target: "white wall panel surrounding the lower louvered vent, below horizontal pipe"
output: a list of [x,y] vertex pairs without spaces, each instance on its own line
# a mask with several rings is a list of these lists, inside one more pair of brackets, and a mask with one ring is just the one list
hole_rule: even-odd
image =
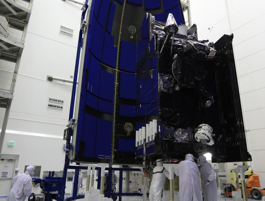
[[[68,120],[71,93],[71,86],[18,75],[11,111]],[[49,96],[64,99],[63,112],[47,109]]]

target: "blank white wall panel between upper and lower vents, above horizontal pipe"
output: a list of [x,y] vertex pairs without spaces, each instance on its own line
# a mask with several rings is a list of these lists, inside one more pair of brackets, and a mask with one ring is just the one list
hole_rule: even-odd
[[[34,48],[33,48],[34,47]],[[77,48],[28,33],[19,74],[46,80],[47,75],[73,80]]]

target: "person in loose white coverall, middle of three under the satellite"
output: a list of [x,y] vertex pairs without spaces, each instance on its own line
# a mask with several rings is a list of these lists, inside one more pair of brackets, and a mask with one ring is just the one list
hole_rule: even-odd
[[181,201],[202,201],[200,174],[193,155],[186,154],[174,172],[179,177],[179,198]]

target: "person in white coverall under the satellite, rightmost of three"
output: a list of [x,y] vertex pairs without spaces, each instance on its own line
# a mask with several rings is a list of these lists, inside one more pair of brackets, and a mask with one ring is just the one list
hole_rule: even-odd
[[198,166],[201,172],[201,186],[204,201],[217,201],[217,184],[213,167],[205,156],[199,156]]

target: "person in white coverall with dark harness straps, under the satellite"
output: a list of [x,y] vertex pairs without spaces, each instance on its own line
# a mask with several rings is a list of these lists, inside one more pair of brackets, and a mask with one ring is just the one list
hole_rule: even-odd
[[149,190],[149,201],[161,201],[162,190],[164,189],[166,176],[169,172],[163,167],[163,160],[156,160],[156,167],[153,169],[153,179]]

